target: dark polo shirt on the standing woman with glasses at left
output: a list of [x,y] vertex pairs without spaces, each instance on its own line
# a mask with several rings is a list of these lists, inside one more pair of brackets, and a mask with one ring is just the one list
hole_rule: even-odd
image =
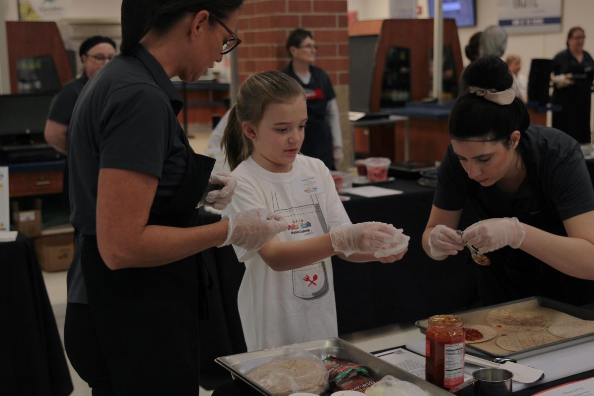
[[[187,141],[177,115],[183,102],[157,60],[138,45],[90,78],[74,108],[68,134],[71,223],[96,235],[99,169],[159,178],[153,209],[181,184]],[[114,202],[117,204],[117,202]]]

